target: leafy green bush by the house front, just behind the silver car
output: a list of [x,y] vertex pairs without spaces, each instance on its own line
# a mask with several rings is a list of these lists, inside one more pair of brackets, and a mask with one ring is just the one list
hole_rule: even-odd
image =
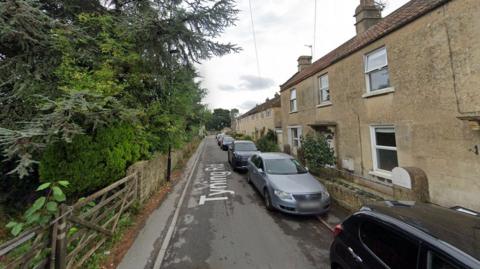
[[323,135],[307,135],[302,137],[302,158],[307,166],[313,169],[335,164],[335,155]]

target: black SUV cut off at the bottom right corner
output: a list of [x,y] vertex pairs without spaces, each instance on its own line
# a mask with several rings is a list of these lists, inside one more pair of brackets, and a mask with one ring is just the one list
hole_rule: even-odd
[[480,217],[431,204],[386,201],[334,229],[331,267],[480,268]]

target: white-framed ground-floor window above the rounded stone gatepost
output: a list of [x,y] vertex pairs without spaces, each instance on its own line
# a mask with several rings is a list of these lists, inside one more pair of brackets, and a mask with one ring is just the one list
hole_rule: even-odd
[[398,166],[397,142],[393,126],[371,127],[373,170],[390,173]]

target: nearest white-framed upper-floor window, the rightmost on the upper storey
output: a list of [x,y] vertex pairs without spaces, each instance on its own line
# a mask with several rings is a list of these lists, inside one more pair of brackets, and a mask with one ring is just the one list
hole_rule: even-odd
[[377,49],[365,55],[365,80],[367,92],[377,91],[390,87],[388,74],[387,49]]

